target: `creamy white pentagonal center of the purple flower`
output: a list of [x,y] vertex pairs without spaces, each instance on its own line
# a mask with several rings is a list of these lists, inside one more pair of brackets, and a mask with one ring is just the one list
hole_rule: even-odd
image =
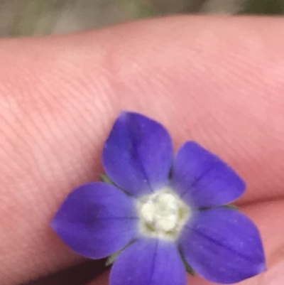
[[190,207],[165,188],[140,198],[138,213],[143,235],[175,240],[190,217]]

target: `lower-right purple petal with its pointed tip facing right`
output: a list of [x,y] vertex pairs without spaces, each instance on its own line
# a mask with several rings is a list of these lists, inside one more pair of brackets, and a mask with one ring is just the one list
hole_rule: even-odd
[[179,244],[187,262],[209,281],[231,284],[266,270],[260,234],[236,210],[200,211],[185,226]]

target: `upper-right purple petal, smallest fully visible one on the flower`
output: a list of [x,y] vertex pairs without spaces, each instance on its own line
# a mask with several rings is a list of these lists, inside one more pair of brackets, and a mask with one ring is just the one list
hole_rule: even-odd
[[197,208],[231,203],[246,188],[232,168],[194,141],[178,151],[171,184],[183,200]]

